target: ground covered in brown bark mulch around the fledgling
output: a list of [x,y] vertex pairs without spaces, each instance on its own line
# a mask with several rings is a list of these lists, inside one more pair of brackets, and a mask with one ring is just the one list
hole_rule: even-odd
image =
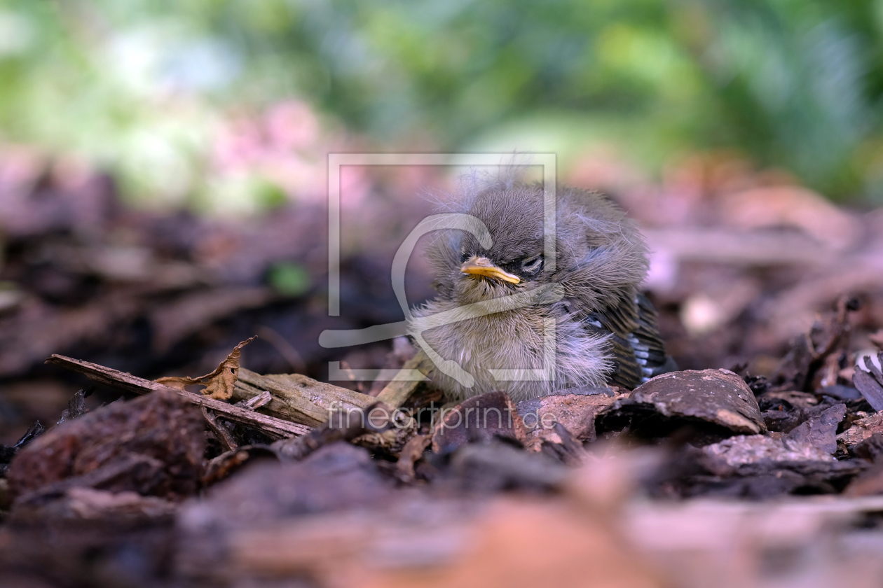
[[[878,584],[883,209],[713,157],[611,190],[685,371],[403,423],[442,405],[431,383],[323,381],[422,365],[404,339],[318,340],[404,318],[420,181],[344,202],[330,317],[322,205],[210,220],[0,173],[3,585]],[[199,374],[210,402],[155,382]],[[479,406],[508,419],[470,428]]]

